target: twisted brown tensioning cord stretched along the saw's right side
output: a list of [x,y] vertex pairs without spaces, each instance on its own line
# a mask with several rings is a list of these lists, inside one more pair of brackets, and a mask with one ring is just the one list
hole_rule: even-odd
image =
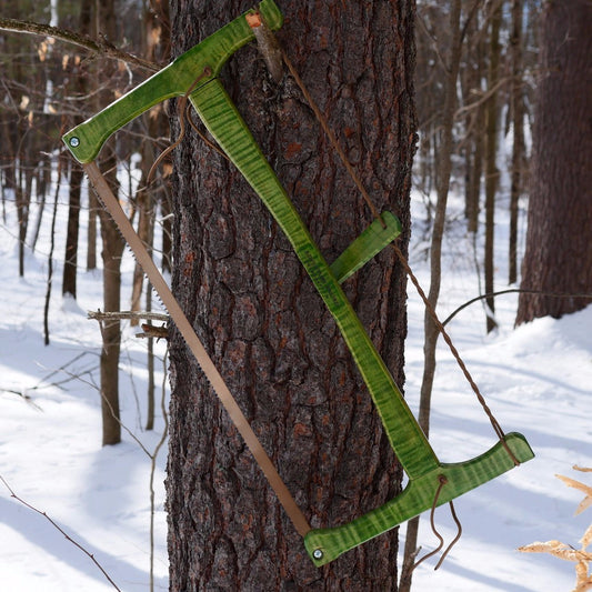
[[[285,66],[288,67],[288,70],[290,71],[290,74],[294,79],[295,83],[298,84],[298,87],[300,88],[302,94],[304,96],[304,99],[307,99],[310,108],[314,112],[314,116],[317,117],[317,120],[319,121],[319,123],[320,123],[321,128],[323,129],[323,131],[327,133],[327,137],[329,138],[329,141],[330,141],[332,148],[338,153],[341,162],[343,163],[343,165],[348,170],[348,173],[350,174],[352,181],[358,187],[358,189],[359,189],[360,193],[362,194],[365,203],[368,204],[370,211],[372,212],[372,215],[375,219],[381,220],[381,222],[382,222],[382,224],[384,227],[384,222],[380,218],[380,212],[379,212],[375,203],[372,201],[372,198],[368,193],[364,184],[362,183],[362,180],[360,179],[360,175],[357,173],[355,169],[349,162],[349,160],[348,160],[348,158],[345,155],[345,152],[341,148],[341,146],[340,146],[338,139],[335,138],[333,131],[329,127],[327,118],[324,117],[324,114],[321,112],[321,110],[317,106],[314,99],[312,98],[312,96],[308,91],[307,87],[304,86],[304,82],[302,81],[302,79],[298,74],[295,68],[293,67],[292,62],[290,61],[290,59],[285,54],[285,51],[283,51],[283,49],[281,49],[281,54],[282,54],[282,58],[283,58],[283,61],[284,61]],[[409,265],[409,262],[408,262],[405,255],[402,253],[401,249],[399,248],[399,245],[397,243],[393,242],[392,247],[394,249],[394,252],[395,252],[398,259],[401,261],[401,264],[403,265],[403,269],[405,270],[405,273],[409,275],[409,278],[411,279],[411,282],[413,283],[413,285],[418,290],[418,293],[419,293],[420,298],[422,299],[423,304],[425,305],[425,309],[428,310],[428,313],[430,314],[431,319],[435,323],[435,327],[438,328],[438,331],[442,334],[442,338],[444,339],[444,341],[448,344],[452,355],[456,360],[456,363],[459,364],[459,367],[462,370],[464,377],[466,378],[469,384],[471,385],[473,392],[475,393],[476,399],[479,400],[481,407],[483,408],[483,411],[488,415],[488,418],[490,420],[490,423],[493,427],[493,431],[495,432],[495,434],[498,435],[498,438],[499,438],[500,442],[502,443],[503,448],[505,449],[505,451],[508,452],[508,454],[512,459],[512,462],[514,463],[514,465],[518,466],[520,464],[520,461],[516,459],[515,454],[512,452],[512,450],[510,449],[510,446],[505,442],[505,440],[504,440],[504,435],[505,434],[504,434],[500,423],[498,422],[498,420],[493,415],[493,412],[491,411],[491,409],[486,404],[485,398],[481,393],[479,387],[476,385],[476,383],[473,380],[471,373],[469,372],[469,369],[466,368],[466,364],[464,363],[463,359],[461,358],[461,355],[459,353],[459,350],[452,343],[452,339],[450,338],[450,335],[448,334],[448,331],[445,330],[444,325],[442,324],[442,322],[438,318],[438,314],[435,312],[434,307],[432,305],[432,303],[430,302],[430,300],[425,295],[425,292],[422,290],[420,283],[419,283],[419,280],[415,277],[415,274],[413,273],[413,271],[411,270],[411,267]]]

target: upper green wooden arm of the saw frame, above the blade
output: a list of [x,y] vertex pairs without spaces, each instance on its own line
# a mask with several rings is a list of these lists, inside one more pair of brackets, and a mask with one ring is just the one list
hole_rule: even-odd
[[126,123],[165,99],[185,94],[195,86],[195,81],[199,80],[197,89],[215,78],[232,53],[254,39],[247,16],[255,12],[261,14],[270,29],[278,30],[282,26],[283,17],[275,2],[262,0],[259,9],[251,9],[229,22],[139,87],[66,133],[63,141],[73,157],[83,164],[93,161],[107,139]]

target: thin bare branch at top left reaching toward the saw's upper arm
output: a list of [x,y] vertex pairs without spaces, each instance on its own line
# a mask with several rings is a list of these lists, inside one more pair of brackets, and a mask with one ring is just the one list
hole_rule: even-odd
[[74,46],[84,48],[96,57],[108,58],[110,60],[120,60],[151,72],[158,72],[161,69],[158,63],[143,60],[142,58],[138,58],[132,53],[128,53],[127,51],[116,48],[104,38],[97,40],[87,34],[76,33],[74,31],[69,31],[68,29],[61,29],[59,27],[52,27],[51,24],[0,17],[0,30],[37,34],[42,37],[53,37],[54,39],[64,41],[66,43],[72,43]]

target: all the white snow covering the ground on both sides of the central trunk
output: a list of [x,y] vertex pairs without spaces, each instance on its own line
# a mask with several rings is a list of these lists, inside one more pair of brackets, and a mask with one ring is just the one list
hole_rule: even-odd
[[[451,201],[451,212],[461,204]],[[34,208],[33,208],[34,209]],[[100,272],[79,273],[78,299],[61,297],[66,207],[58,209],[50,345],[43,345],[50,213],[46,211],[36,252],[27,249],[26,274],[18,278],[16,213],[7,201],[0,228],[0,475],[14,493],[46,512],[87,549],[121,590],[148,590],[150,569],[150,458],[123,432],[123,443],[101,448],[99,381],[100,333],[87,310],[101,307]],[[411,263],[429,284],[421,237],[424,210],[414,197],[415,234]],[[31,217],[33,218],[33,217]],[[84,217],[83,217],[84,220]],[[84,223],[82,224],[84,225]],[[506,220],[498,215],[498,253],[503,252]],[[86,237],[81,235],[81,254]],[[479,245],[478,245],[479,248]],[[505,289],[505,262],[496,255],[498,289]],[[83,259],[83,255],[82,255]],[[479,293],[473,245],[462,220],[451,217],[444,243],[441,318]],[[129,299],[133,262],[126,254],[123,299]],[[423,309],[410,285],[405,392],[414,411],[422,373]],[[561,320],[540,319],[513,328],[518,298],[496,299],[499,330],[486,335],[481,303],[461,311],[449,330],[503,429],[523,433],[535,459],[455,501],[463,535],[443,565],[424,562],[413,575],[413,590],[471,592],[569,591],[574,565],[523,554],[518,546],[559,539],[578,545],[590,524],[590,511],[574,516],[581,492],[555,476],[590,484],[590,474],[573,464],[592,465],[592,308]],[[127,304],[123,304],[127,307]],[[163,344],[157,345],[162,358]],[[163,379],[157,364],[157,384]],[[162,433],[146,431],[146,343],[123,327],[121,357],[122,421],[152,453]],[[157,397],[160,393],[157,392]],[[157,405],[159,407],[159,405]],[[488,418],[443,343],[439,344],[430,437],[442,461],[462,461],[495,443]],[[155,469],[154,588],[168,588],[163,479],[165,446]],[[455,526],[448,506],[437,511],[437,525],[449,542]],[[401,529],[401,549],[404,544]],[[433,549],[428,516],[421,521],[422,553]],[[0,590],[19,592],[112,590],[97,565],[66,540],[42,515],[11,499],[0,483]]]

